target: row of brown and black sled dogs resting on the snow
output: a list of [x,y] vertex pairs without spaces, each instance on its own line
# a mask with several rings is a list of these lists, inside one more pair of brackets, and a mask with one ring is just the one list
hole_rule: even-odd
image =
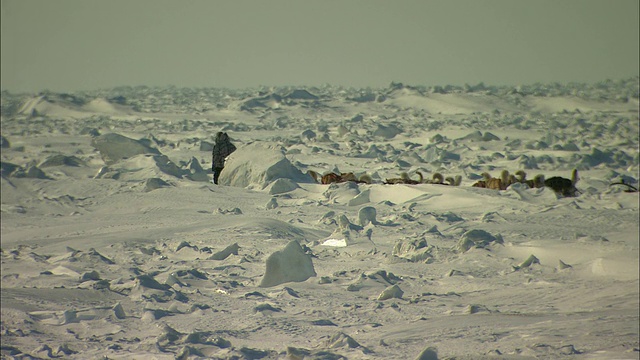
[[[356,183],[371,184],[373,179],[367,174],[362,174],[359,177],[352,172],[336,174],[333,172],[320,175],[313,170],[307,172],[317,183],[320,184],[332,184],[341,183],[347,181],[353,181]],[[420,171],[416,171],[418,179],[411,179],[409,174],[402,172],[398,178],[385,179],[383,184],[435,184],[435,185],[448,185],[448,186],[460,186],[462,183],[462,176],[456,175],[455,177],[447,176],[446,178],[441,173],[434,173],[431,179],[424,179],[424,176]],[[545,179],[542,174],[536,175],[533,179],[527,179],[527,174],[524,170],[518,170],[515,174],[510,174],[508,170],[503,170],[499,178],[492,177],[489,173],[482,174],[483,180],[477,181],[472,186],[479,188],[487,188],[494,190],[506,190],[509,186],[515,183],[526,184],[529,188],[542,188],[548,187],[555,191],[558,195],[565,197],[576,196],[580,191],[576,188],[578,182],[578,170],[573,169],[571,173],[571,179],[563,178],[560,176],[554,176]]]

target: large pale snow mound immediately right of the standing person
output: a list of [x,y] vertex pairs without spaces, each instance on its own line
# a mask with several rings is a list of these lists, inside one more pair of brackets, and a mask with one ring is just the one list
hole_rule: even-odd
[[220,173],[220,185],[266,188],[277,179],[310,182],[310,177],[293,166],[277,145],[252,143],[229,156]]

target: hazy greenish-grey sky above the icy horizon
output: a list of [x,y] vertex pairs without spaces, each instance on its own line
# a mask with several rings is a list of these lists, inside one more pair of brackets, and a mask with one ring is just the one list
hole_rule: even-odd
[[0,0],[1,88],[593,82],[638,0]]

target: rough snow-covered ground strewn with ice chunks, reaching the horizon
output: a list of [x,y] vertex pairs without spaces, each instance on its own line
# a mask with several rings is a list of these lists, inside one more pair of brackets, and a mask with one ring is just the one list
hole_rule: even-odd
[[3,92],[2,358],[638,359],[638,92]]

